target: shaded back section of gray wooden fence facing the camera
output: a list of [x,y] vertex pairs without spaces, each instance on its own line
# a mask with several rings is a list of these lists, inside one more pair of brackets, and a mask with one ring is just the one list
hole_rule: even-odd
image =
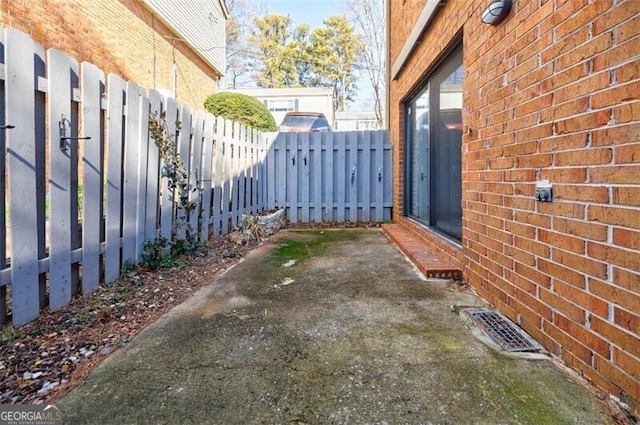
[[391,219],[389,132],[279,133],[267,154],[267,207],[290,222]]

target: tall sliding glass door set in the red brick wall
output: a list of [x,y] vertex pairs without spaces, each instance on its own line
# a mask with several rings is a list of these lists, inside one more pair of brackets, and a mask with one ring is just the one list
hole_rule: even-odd
[[406,215],[462,240],[462,48],[405,105]]

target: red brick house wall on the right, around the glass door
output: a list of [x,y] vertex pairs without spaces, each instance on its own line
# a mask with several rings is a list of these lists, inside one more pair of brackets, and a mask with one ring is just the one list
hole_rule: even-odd
[[[394,220],[640,413],[640,1],[450,0],[391,81]],[[393,64],[425,0],[391,0]],[[398,18],[396,19],[396,16]],[[403,218],[403,101],[463,34],[463,240]],[[554,200],[535,202],[550,180]]]

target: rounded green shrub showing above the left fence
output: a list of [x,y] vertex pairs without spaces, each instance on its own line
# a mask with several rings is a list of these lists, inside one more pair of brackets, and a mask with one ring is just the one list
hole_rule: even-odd
[[278,129],[267,107],[255,97],[246,94],[214,93],[204,101],[204,108],[217,117],[237,121],[260,131]]

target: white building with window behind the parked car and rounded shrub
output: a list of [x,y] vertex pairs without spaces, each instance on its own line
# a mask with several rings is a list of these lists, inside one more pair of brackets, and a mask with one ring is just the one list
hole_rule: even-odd
[[247,88],[229,90],[253,96],[265,104],[280,125],[287,112],[320,112],[334,125],[331,87]]

